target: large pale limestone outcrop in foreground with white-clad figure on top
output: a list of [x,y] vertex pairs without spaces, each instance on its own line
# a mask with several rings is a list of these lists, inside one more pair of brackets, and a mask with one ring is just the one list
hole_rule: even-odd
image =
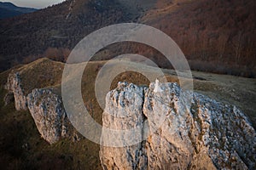
[[[159,83],[157,91],[154,86],[124,82],[108,93],[103,126],[141,127],[134,135],[147,136],[131,146],[127,141],[132,136],[120,142],[124,147],[101,146],[104,169],[255,167],[256,133],[236,106],[184,91],[176,83]],[[143,122],[147,127],[139,126]],[[102,131],[103,144],[106,136]]]

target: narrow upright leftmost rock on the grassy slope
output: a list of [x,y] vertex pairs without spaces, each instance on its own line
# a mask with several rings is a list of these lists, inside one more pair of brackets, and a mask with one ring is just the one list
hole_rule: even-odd
[[24,90],[21,85],[19,72],[9,74],[6,89],[8,89],[9,92],[13,93],[15,96],[16,110],[27,110],[26,95],[24,94]]

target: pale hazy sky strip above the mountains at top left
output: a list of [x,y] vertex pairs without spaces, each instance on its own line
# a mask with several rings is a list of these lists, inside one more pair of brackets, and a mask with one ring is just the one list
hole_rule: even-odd
[[11,2],[20,7],[45,8],[63,1],[65,0],[1,0],[0,2]]

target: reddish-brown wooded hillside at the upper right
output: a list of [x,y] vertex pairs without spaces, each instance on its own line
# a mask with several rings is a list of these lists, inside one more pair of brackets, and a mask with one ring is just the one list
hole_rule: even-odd
[[141,22],[170,35],[188,59],[199,61],[192,67],[205,70],[199,64],[210,61],[216,71],[226,65],[255,71],[255,8],[249,0],[173,1],[149,10]]

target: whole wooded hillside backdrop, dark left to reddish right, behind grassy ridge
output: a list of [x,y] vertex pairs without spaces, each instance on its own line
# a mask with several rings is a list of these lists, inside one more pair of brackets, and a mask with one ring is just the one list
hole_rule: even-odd
[[[194,70],[255,77],[254,8],[253,0],[67,0],[34,14],[0,21],[0,70],[39,57],[65,61],[75,44],[90,32],[135,21],[170,35]],[[96,59],[127,51],[149,55],[166,66],[160,54],[137,44],[108,47],[109,55],[97,54]]]

